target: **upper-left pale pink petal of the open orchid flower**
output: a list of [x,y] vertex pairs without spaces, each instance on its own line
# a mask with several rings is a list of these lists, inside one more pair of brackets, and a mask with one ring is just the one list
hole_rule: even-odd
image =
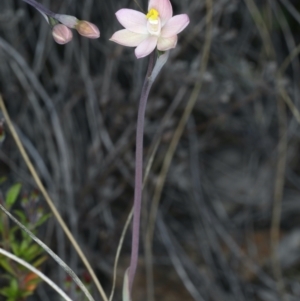
[[147,34],[147,18],[143,13],[133,9],[120,9],[116,12],[118,21],[128,30]]

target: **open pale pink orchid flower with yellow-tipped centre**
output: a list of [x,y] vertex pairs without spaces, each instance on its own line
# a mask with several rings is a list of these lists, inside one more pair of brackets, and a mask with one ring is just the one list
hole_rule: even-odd
[[190,22],[186,14],[172,17],[170,0],[150,0],[147,15],[132,9],[120,9],[116,16],[125,29],[115,32],[110,40],[136,47],[137,58],[147,56],[155,47],[160,51],[175,48],[177,34]]

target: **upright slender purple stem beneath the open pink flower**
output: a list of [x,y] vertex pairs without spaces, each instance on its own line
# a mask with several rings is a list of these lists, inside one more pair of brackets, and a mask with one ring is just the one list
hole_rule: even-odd
[[140,240],[140,215],[142,203],[142,185],[143,185],[143,140],[144,140],[144,121],[148,95],[153,83],[151,76],[154,65],[154,52],[150,54],[147,75],[144,81],[142,94],[140,98],[138,120],[136,128],[136,151],[135,151],[135,186],[134,186],[134,209],[133,209],[133,228],[131,258],[129,269],[129,289],[132,290],[133,280],[136,272],[139,256]]

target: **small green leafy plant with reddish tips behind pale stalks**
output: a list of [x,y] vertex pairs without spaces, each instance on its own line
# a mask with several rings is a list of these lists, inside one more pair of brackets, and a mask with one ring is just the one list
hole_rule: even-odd
[[[3,182],[0,179],[0,183]],[[23,210],[13,210],[13,214],[20,222],[33,233],[48,218],[49,214],[44,214],[39,207],[39,194],[37,191],[29,195],[20,197],[22,185],[20,183],[12,185],[5,194],[2,201],[7,210],[12,211],[17,200]],[[36,268],[39,268],[47,259],[44,250],[20,228],[12,224],[4,212],[0,212],[0,246],[13,253],[17,257],[27,261]],[[2,268],[0,294],[8,301],[21,301],[33,294],[41,279],[34,273],[28,271],[23,266],[16,264],[6,256],[0,255],[0,267]]]

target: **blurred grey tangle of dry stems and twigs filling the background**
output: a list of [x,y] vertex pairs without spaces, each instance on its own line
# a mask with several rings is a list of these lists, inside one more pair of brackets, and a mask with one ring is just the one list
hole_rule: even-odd
[[[146,11],[147,1],[136,2]],[[136,2],[41,1],[100,28],[100,39],[74,32],[65,46],[55,44],[32,7],[16,0],[0,4],[0,93],[107,292],[133,203],[136,115],[147,68],[147,58],[137,60],[132,48],[108,39],[121,29],[114,13],[124,7],[140,10]],[[171,2],[174,14],[187,13],[191,22],[148,102],[146,162],[159,144],[143,193],[134,300],[299,300],[299,1]],[[213,10],[210,31],[207,5]],[[200,73],[204,45],[210,42],[208,64]],[[145,259],[149,208],[170,142],[200,83],[159,197],[152,285]],[[7,185],[22,183],[24,191],[36,188],[8,131],[0,176],[7,177]],[[2,195],[6,189],[1,186]],[[54,218],[38,236],[84,277]],[[127,234],[115,300],[121,298],[130,244]],[[42,269],[62,286],[68,280],[50,259]],[[0,286],[4,282],[0,278]],[[57,300],[52,294],[40,284],[28,300]]]

